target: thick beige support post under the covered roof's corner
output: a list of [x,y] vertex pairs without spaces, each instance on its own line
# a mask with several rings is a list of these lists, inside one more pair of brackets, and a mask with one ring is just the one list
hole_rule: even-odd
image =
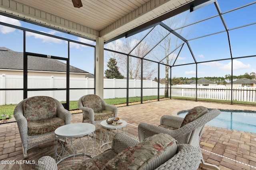
[[95,73],[95,94],[103,99],[104,82],[104,39],[96,38],[96,73]]

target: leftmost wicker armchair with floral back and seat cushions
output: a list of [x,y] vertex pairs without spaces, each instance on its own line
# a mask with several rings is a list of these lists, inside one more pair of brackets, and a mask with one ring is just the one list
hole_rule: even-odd
[[14,109],[24,158],[27,150],[45,141],[55,139],[54,130],[70,124],[71,113],[62,104],[48,96],[34,96],[22,100]]

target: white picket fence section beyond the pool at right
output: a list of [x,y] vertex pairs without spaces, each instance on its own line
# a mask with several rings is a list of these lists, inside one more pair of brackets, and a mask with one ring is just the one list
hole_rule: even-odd
[[[256,87],[233,87],[233,101],[256,102]],[[195,86],[172,86],[172,96],[196,98]],[[231,100],[231,87],[204,86],[197,88],[197,98]]]

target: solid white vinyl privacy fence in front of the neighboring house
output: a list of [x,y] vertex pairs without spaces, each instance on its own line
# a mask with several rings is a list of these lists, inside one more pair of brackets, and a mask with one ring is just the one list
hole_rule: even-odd
[[[104,79],[104,88],[126,88],[125,79]],[[70,88],[94,88],[94,78],[70,78]],[[129,80],[129,88],[140,88],[140,80]],[[143,96],[157,96],[158,83],[143,80]],[[23,88],[23,76],[0,75],[0,88]],[[66,77],[28,76],[28,88],[66,88]],[[150,89],[151,88],[151,89]],[[155,89],[152,89],[155,88]],[[160,84],[160,88],[164,85]],[[94,89],[70,90],[70,101],[77,101],[81,96],[94,94]],[[164,95],[164,89],[160,89]],[[28,91],[31,96],[50,96],[59,101],[66,101],[66,90]],[[129,89],[129,97],[140,96],[140,89]],[[105,89],[104,98],[126,98],[126,89]],[[0,105],[18,104],[23,100],[23,90],[1,90]]]

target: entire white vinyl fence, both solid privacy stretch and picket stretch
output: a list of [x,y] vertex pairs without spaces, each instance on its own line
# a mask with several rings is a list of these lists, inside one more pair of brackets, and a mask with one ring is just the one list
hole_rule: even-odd
[[[129,97],[140,96],[140,80],[129,80]],[[157,96],[158,83],[143,80],[143,96]],[[164,85],[160,84],[160,95],[164,95]],[[23,76],[0,75],[0,88],[23,88]],[[66,88],[65,77],[28,76],[28,88]],[[94,88],[94,78],[70,78],[70,88]],[[126,98],[125,79],[104,79],[104,99]],[[118,89],[119,88],[119,89]],[[233,100],[256,102],[256,87],[233,87]],[[77,101],[81,96],[94,94],[94,89],[70,90],[70,101]],[[196,98],[195,86],[172,86],[172,96]],[[31,96],[51,96],[59,101],[66,101],[66,90],[29,91]],[[223,86],[204,86],[197,88],[198,98],[231,100],[231,88]],[[0,105],[18,104],[23,99],[23,90],[1,90]]]

